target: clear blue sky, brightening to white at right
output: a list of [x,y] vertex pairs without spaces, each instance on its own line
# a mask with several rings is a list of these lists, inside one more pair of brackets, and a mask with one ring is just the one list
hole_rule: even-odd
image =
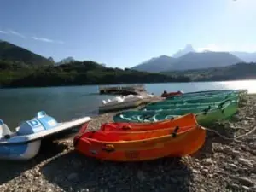
[[186,44],[256,51],[255,9],[256,0],[1,0],[0,39],[124,68]]

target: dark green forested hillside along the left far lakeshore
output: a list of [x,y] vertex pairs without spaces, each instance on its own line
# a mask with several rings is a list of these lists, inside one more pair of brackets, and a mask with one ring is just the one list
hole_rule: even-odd
[[189,78],[160,73],[144,73],[131,69],[104,67],[93,61],[63,64],[60,66],[30,67],[0,61],[0,86],[43,87],[82,84],[132,84],[187,82]]

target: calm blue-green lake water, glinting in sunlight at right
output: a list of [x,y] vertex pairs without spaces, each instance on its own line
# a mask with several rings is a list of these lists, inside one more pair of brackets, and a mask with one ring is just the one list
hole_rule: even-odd
[[[145,85],[149,93],[160,95],[163,90],[191,92],[247,89],[249,93],[256,93],[255,84],[256,80]],[[12,129],[20,124],[20,121],[31,119],[40,110],[46,111],[58,121],[86,115],[95,116],[102,99],[112,97],[98,95],[98,86],[0,89],[0,119]]]

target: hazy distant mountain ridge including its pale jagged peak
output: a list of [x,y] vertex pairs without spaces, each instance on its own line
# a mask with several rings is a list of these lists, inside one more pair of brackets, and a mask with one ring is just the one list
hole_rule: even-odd
[[192,45],[186,45],[184,49],[177,51],[174,55],[163,55],[131,67],[134,70],[144,72],[165,72],[172,70],[189,70],[210,67],[225,67],[239,62],[255,62],[256,53],[245,52],[195,52]]

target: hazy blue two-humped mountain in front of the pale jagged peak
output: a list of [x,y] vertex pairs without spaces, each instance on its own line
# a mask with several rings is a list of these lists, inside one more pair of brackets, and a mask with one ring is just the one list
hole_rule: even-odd
[[139,71],[157,73],[172,70],[224,67],[238,62],[242,62],[242,60],[235,55],[226,52],[189,52],[178,58],[160,56],[131,68]]

